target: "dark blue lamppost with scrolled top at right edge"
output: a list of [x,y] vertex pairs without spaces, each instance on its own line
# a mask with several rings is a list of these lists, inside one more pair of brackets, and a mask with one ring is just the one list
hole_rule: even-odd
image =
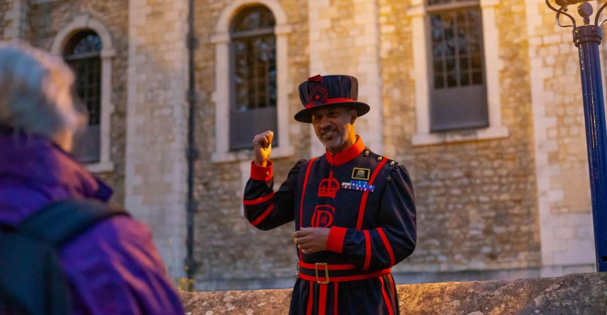
[[[607,271],[607,136],[605,131],[605,106],[603,105],[603,83],[599,45],[601,44],[601,25],[599,15],[607,2],[603,4],[591,24],[594,12],[590,0],[555,0],[546,4],[557,12],[557,24],[573,29],[573,42],[580,53],[580,75],[582,76],[582,95],[586,124],[586,147],[588,148],[588,168],[590,171],[590,190],[592,193],[592,220],[594,222],[594,245],[596,249],[597,271]],[[577,6],[577,13],[583,18],[583,25],[577,25],[575,18],[569,15],[569,5]],[[571,20],[571,24],[561,24],[561,16]]]

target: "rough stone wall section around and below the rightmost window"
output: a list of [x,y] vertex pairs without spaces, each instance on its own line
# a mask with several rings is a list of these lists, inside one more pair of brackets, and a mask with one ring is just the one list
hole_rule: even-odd
[[[379,1],[385,147],[394,152],[391,158],[409,169],[418,210],[418,247],[395,270],[538,267],[540,237],[524,1],[501,0],[493,7],[498,63],[507,65],[496,70],[501,123],[508,130],[507,137],[428,145],[412,144],[418,132],[416,111],[420,110],[416,108],[413,53],[424,47],[414,42],[410,8],[410,1]],[[467,136],[466,131],[452,134]]]

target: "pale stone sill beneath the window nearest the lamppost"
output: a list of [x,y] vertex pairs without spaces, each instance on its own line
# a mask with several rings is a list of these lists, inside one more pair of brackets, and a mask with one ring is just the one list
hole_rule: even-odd
[[507,127],[489,127],[467,131],[446,131],[441,133],[418,133],[413,135],[414,146],[446,144],[452,142],[501,139],[508,137]]

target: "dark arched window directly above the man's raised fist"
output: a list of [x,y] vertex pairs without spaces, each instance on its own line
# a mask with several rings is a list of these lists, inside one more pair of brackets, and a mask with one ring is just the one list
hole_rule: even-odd
[[[277,130],[276,22],[263,5],[246,7],[230,28],[229,148],[251,147],[251,137]],[[275,133],[273,145],[277,146]]]

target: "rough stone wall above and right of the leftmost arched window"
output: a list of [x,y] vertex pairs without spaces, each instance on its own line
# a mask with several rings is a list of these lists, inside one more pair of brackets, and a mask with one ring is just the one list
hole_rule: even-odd
[[126,161],[126,69],[127,47],[129,45],[128,17],[124,2],[120,0],[69,0],[38,1],[30,5],[27,41],[35,47],[50,51],[56,35],[64,30],[78,16],[89,15],[109,31],[115,48],[111,59],[110,104],[114,111],[110,116],[110,160],[113,170],[96,173],[114,188],[112,202],[124,205],[124,167]]

